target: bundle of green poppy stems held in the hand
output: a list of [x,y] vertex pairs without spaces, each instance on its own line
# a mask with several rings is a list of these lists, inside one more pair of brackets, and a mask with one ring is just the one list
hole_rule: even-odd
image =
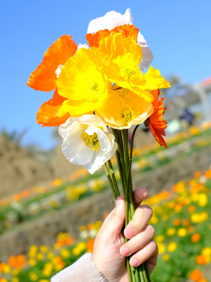
[[[133,218],[135,213],[135,205],[133,198],[133,185],[132,185],[132,175],[131,175],[131,166],[132,166],[132,155],[133,155],[133,142],[134,135],[138,128],[138,125],[135,127],[132,138],[131,146],[129,152],[129,139],[128,139],[128,129],[118,130],[112,129],[115,136],[115,141],[118,144],[118,149],[116,151],[117,164],[121,179],[121,185],[123,190],[123,195],[125,199],[125,227],[128,225],[129,221]],[[107,164],[108,163],[108,164]],[[108,160],[104,164],[104,170],[106,171],[109,184],[112,189],[114,200],[116,203],[116,198],[120,195],[118,184],[116,181],[115,173],[111,160]],[[128,238],[125,238],[125,243],[128,241]],[[126,264],[128,268],[129,281],[130,282],[151,282],[149,271],[147,269],[146,263],[141,264],[138,267],[132,267],[129,264],[131,256],[126,257]]]

